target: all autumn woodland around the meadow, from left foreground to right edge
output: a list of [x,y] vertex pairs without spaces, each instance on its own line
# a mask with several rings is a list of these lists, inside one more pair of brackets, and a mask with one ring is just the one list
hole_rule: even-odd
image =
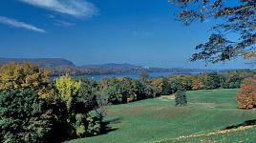
[[59,142],[97,135],[107,130],[103,122],[106,106],[176,92],[185,97],[182,91],[240,88],[243,83],[239,107],[256,105],[255,72],[248,70],[158,78],[141,72],[139,79],[105,77],[100,81],[68,74],[50,80],[49,74],[28,62],[1,68],[1,142]]

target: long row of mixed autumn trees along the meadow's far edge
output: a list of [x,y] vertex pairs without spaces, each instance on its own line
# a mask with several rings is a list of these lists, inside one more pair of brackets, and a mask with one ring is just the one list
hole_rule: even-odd
[[[252,77],[255,71],[203,72],[151,78],[141,72],[139,79],[130,77],[104,77],[93,81],[111,104],[127,103],[178,91],[239,89],[245,78]],[[79,80],[79,77],[77,77]]]

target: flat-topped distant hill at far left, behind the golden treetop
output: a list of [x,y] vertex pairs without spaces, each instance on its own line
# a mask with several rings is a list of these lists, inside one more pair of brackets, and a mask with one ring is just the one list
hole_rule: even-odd
[[57,68],[57,67],[75,67],[75,64],[64,58],[2,58],[0,57],[0,65],[10,62],[25,62],[29,61],[32,64],[39,65],[42,68]]

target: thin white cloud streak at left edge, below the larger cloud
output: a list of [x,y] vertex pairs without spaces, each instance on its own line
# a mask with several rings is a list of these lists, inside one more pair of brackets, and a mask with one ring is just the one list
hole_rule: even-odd
[[45,30],[37,28],[30,24],[20,22],[15,19],[11,19],[11,18],[4,17],[4,16],[0,16],[0,23],[10,25],[15,28],[21,28],[21,29],[26,29],[26,30],[30,30],[30,31],[46,32]]

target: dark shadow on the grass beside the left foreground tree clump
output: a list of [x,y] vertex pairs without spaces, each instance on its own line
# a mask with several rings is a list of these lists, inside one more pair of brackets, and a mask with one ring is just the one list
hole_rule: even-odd
[[111,123],[116,124],[116,123],[120,123],[120,122],[121,122],[120,118],[115,118],[115,119],[112,119],[112,120],[102,122],[101,123],[101,132],[100,132],[100,134],[107,134],[107,133],[110,133],[110,132],[117,131],[117,128],[110,127],[110,124]]

